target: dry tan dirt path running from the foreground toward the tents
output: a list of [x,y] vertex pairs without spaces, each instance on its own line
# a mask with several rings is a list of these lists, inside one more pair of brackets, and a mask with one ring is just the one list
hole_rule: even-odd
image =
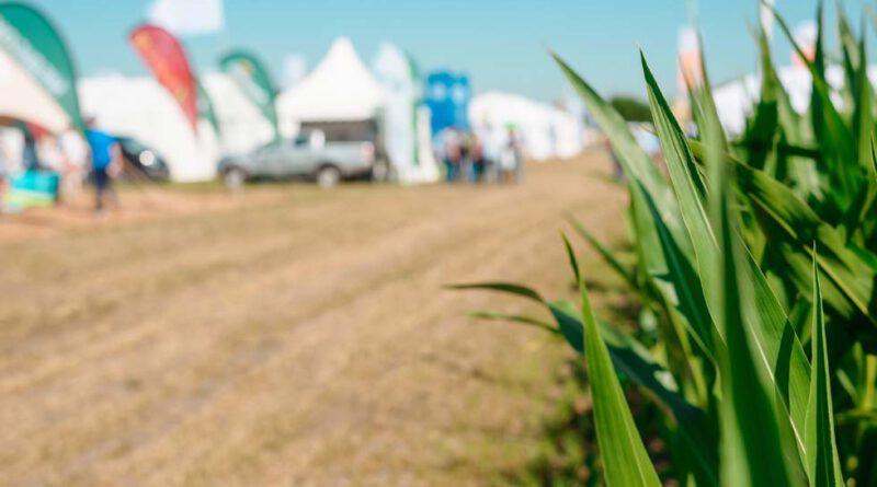
[[442,286],[567,292],[562,212],[622,227],[607,165],[270,187],[0,243],[0,485],[500,483],[562,347],[463,314],[516,301]]

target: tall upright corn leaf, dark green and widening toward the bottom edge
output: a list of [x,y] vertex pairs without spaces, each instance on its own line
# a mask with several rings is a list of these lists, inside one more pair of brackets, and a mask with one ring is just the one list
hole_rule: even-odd
[[722,397],[719,403],[721,421],[721,484],[727,486],[795,485],[791,467],[784,455],[785,441],[781,430],[788,421],[778,415],[775,393],[768,385],[763,368],[759,367],[749,326],[759,320],[752,302],[755,292],[744,264],[736,229],[728,165],[720,154],[722,148],[711,137],[719,130],[715,125],[705,135],[707,166],[710,172],[710,212],[713,228],[721,252],[716,265],[716,309],[719,328],[725,333],[726,348],[720,350],[719,370]]

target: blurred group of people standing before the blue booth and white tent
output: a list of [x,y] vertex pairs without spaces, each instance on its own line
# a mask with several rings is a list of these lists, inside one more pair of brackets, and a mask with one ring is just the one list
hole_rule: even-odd
[[483,132],[449,127],[438,135],[436,152],[447,183],[521,183],[523,150],[514,127]]

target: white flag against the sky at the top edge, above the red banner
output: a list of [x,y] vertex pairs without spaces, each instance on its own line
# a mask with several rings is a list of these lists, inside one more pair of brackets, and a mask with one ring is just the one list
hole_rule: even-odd
[[176,35],[212,34],[223,30],[223,0],[153,0],[149,22]]

